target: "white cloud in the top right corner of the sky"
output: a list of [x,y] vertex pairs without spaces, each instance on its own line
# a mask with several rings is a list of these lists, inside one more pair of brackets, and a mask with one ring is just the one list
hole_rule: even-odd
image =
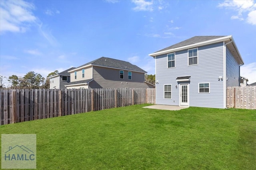
[[237,14],[231,16],[232,20],[238,19],[242,21],[247,17],[247,23],[256,25],[256,4],[254,0],[225,0],[219,3],[218,7],[236,11]]

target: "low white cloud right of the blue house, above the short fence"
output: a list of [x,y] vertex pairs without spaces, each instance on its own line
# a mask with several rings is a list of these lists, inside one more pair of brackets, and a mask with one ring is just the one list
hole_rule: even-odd
[[248,84],[256,82],[256,62],[242,65],[240,68],[240,76],[248,78]]

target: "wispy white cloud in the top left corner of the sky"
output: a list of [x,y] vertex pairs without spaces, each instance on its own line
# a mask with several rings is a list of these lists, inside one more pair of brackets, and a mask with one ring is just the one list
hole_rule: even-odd
[[32,3],[22,0],[1,1],[0,3],[0,32],[25,32],[29,23],[37,18],[32,13],[35,7]]

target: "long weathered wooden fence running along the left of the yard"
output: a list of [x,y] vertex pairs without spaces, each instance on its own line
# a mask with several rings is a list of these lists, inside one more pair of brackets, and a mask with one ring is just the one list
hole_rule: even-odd
[[0,125],[154,102],[153,88],[0,90]]

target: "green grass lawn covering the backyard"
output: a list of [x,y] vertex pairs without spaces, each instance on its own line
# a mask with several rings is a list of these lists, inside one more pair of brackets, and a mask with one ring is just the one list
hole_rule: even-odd
[[36,133],[37,168],[256,169],[256,111],[119,107],[0,126]]

